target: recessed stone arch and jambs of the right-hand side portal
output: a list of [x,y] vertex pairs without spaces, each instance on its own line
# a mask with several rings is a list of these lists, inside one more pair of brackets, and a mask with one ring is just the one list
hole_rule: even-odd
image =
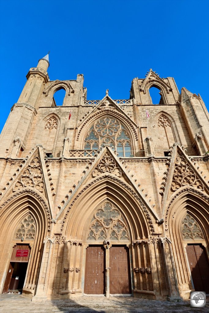
[[[172,242],[177,280],[180,294],[185,296],[191,285],[191,272],[188,266],[186,246],[203,244],[209,247],[209,197],[192,187],[181,188],[170,200],[165,212],[165,231]],[[186,214],[195,219],[203,233],[203,238],[185,239],[182,235],[182,221]]]

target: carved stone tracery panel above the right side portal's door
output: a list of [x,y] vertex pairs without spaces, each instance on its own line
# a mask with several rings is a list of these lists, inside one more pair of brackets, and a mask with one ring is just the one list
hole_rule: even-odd
[[188,239],[204,239],[202,230],[195,218],[190,214],[186,214],[181,224],[182,237],[185,240]]

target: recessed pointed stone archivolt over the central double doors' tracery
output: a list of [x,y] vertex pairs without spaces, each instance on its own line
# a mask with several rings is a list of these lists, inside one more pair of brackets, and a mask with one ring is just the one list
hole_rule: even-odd
[[73,198],[65,211],[62,234],[73,238],[82,234],[84,239],[95,209],[104,201],[111,201],[121,210],[132,239],[154,234],[153,221],[143,200],[125,182],[110,174],[95,178]]

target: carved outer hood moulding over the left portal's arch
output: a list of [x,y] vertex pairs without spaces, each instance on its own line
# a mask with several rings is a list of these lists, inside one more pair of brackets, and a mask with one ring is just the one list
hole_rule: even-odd
[[29,193],[30,195],[34,196],[44,207],[46,213],[47,213],[47,219],[48,219],[48,232],[51,231],[51,215],[50,215],[50,210],[47,206],[47,204],[45,203],[44,199],[39,195],[39,193],[35,192],[35,190],[32,190],[30,188],[25,188],[25,189],[21,189],[18,192],[13,193],[13,195],[11,197],[9,197],[6,201],[3,202],[3,204],[0,206],[0,209],[2,209],[5,205],[7,205],[10,201],[12,201],[13,199],[15,199],[16,197],[18,197],[19,195],[23,195],[23,194],[27,194]]

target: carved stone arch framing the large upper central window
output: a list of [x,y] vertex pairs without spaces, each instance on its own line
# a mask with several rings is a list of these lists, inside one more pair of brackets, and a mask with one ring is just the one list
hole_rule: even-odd
[[112,116],[113,118],[114,117],[117,118],[118,121],[120,121],[124,126],[126,126],[126,128],[129,130],[129,133],[132,137],[131,138],[132,142],[134,142],[134,139],[138,140],[138,134],[136,131],[137,125],[134,125],[134,123],[131,122],[126,116],[124,116],[124,114],[122,114],[118,111],[109,109],[109,108],[105,108],[105,109],[102,109],[100,111],[94,112],[94,114],[92,114],[88,118],[86,118],[86,120],[83,122],[83,124],[80,127],[78,127],[79,131],[78,131],[78,135],[77,135],[76,140],[79,141],[80,143],[82,143],[84,140],[84,136],[86,134],[86,131],[87,131],[86,125],[88,126],[88,129],[90,129],[92,124],[98,118],[104,117],[107,114]]

